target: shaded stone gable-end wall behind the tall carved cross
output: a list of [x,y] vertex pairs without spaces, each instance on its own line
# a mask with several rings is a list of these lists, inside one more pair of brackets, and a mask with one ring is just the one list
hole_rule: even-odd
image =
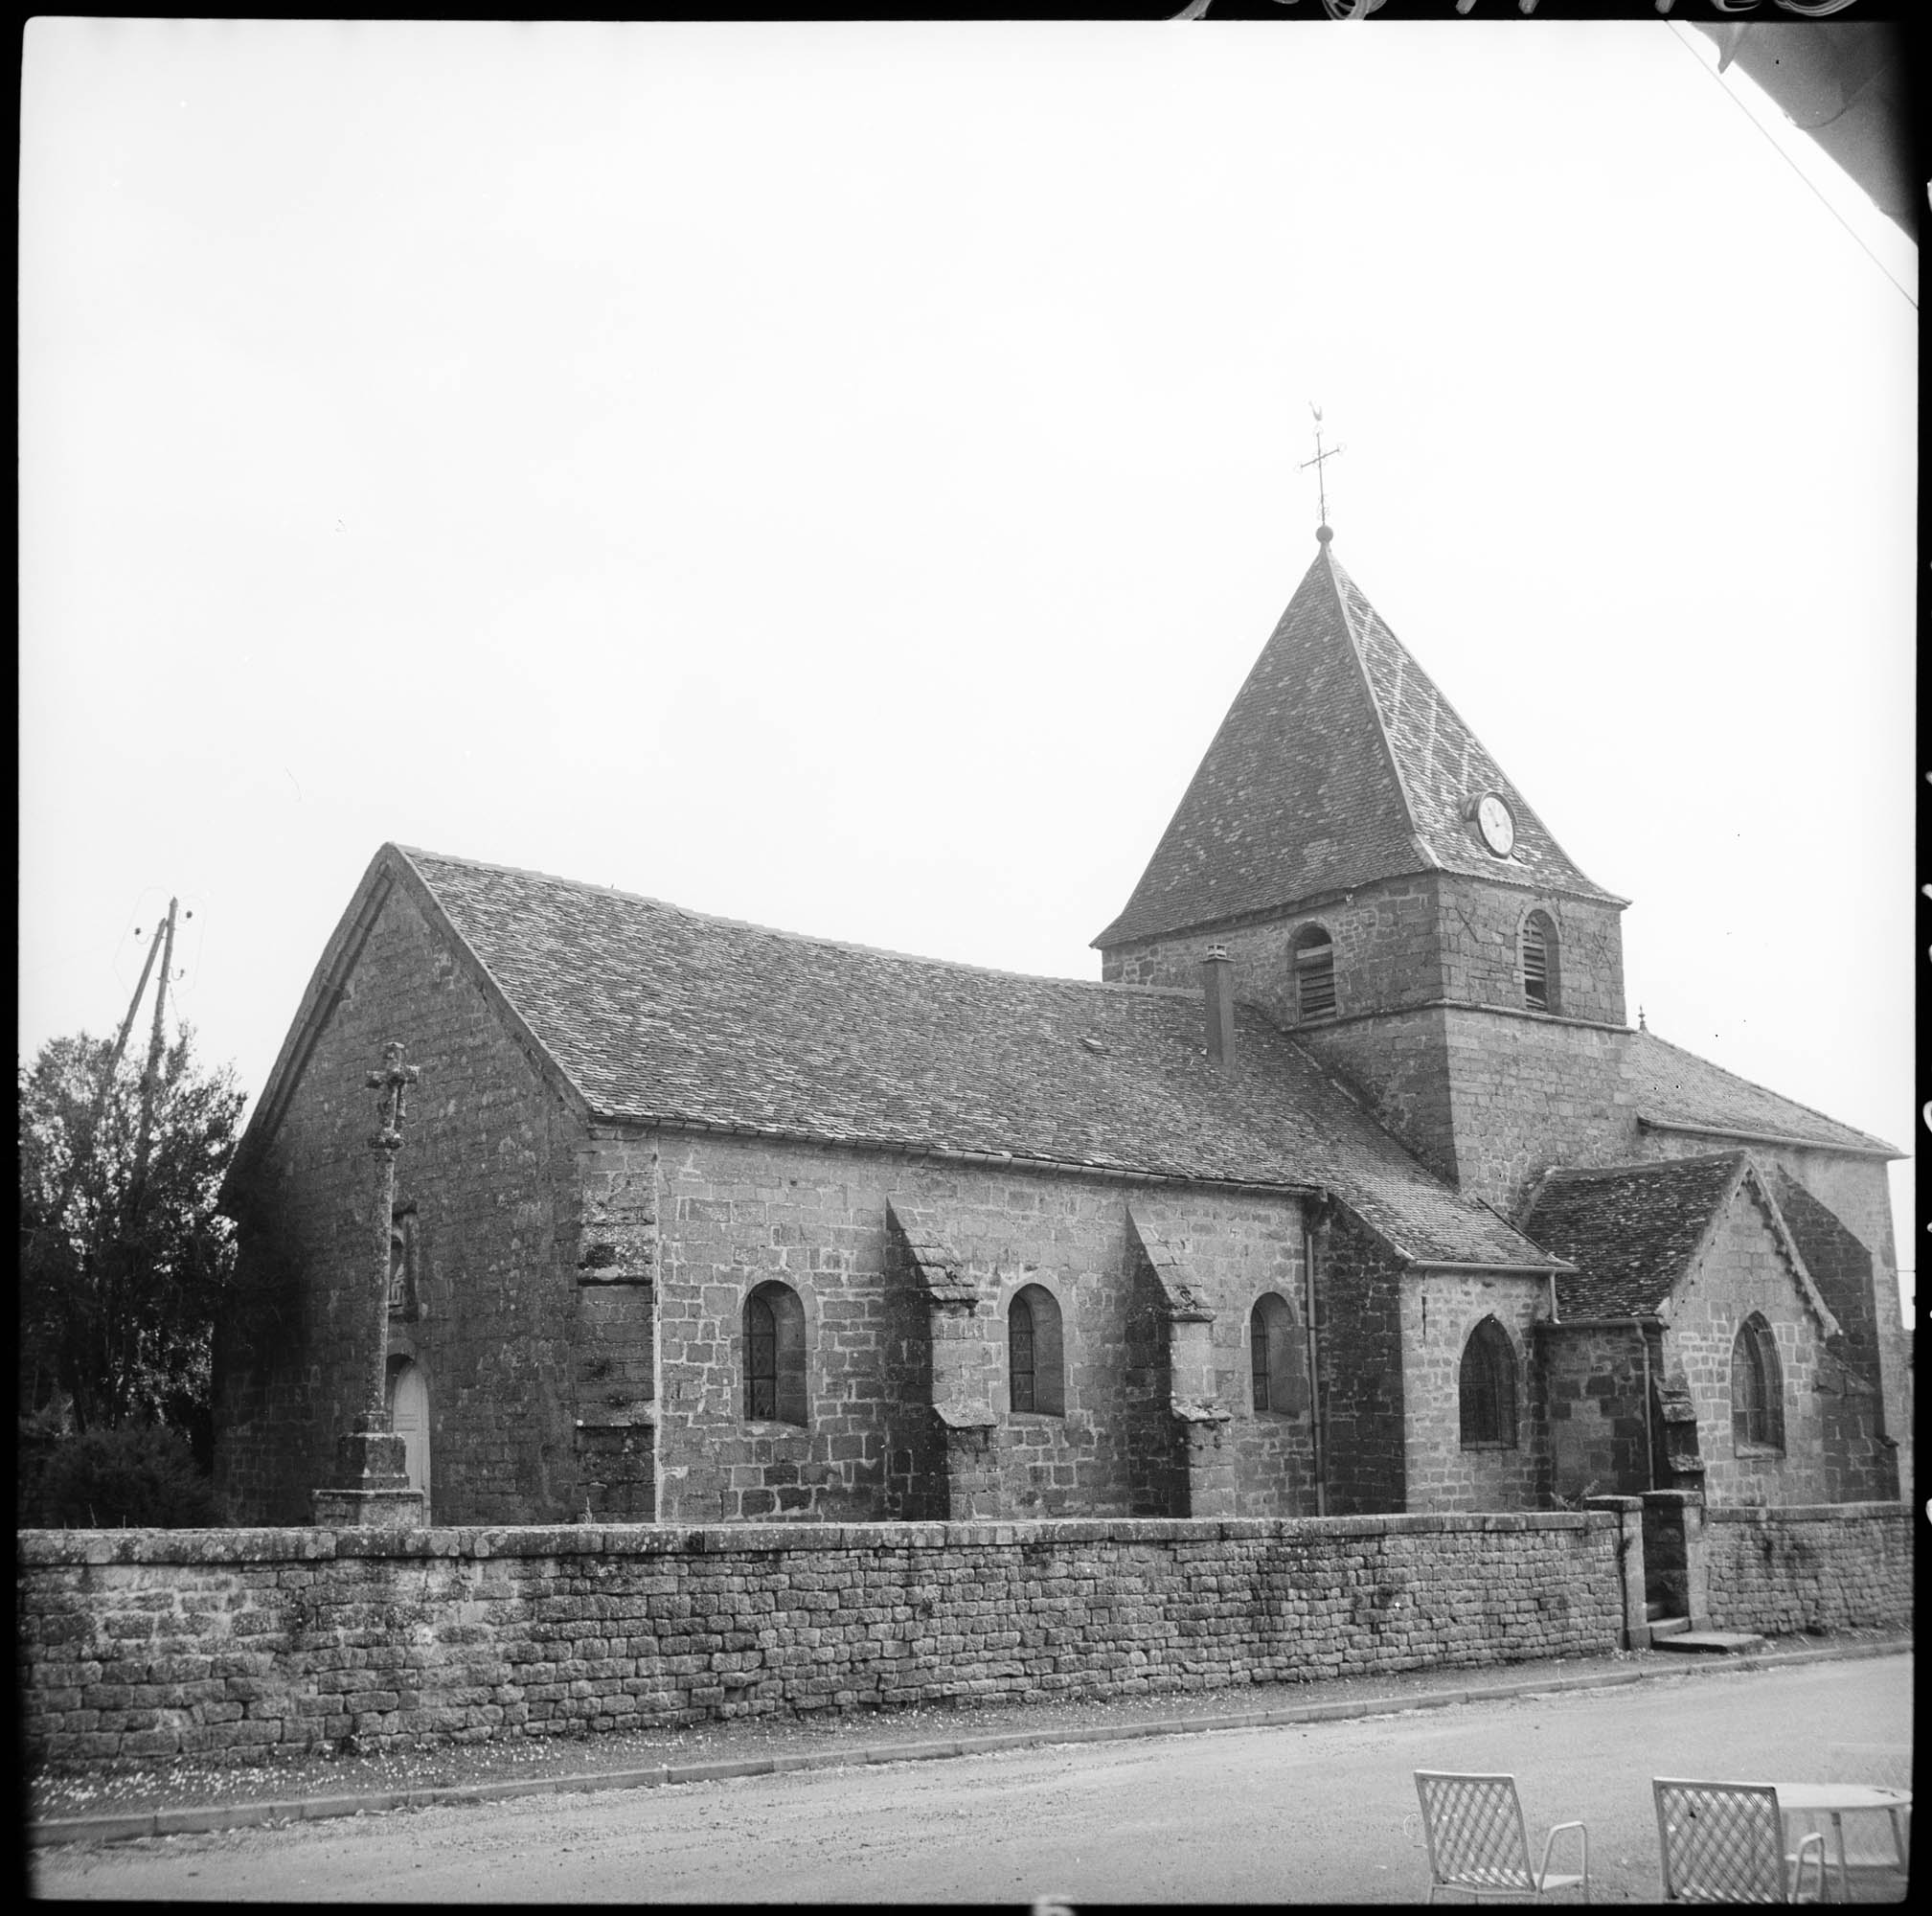
[[216,1375],[216,1493],[242,1522],[307,1522],[363,1404],[377,1182],[365,1076],[402,1039],[421,1070],[396,1163],[415,1205],[437,1520],[582,1510],[572,1437],[578,1126],[481,987],[390,890],[242,1192],[243,1306]]

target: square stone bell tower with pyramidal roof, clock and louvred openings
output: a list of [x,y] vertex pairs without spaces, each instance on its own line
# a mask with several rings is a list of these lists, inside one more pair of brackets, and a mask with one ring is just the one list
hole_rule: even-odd
[[1629,900],[1588,879],[1316,531],[1316,556],[1101,975],[1264,1006],[1439,1174],[1503,1211],[1615,1103]]

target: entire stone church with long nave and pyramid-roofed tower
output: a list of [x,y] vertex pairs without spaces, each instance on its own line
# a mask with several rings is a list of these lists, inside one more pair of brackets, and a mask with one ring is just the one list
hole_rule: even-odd
[[1621,912],[1327,527],[1101,981],[383,846],[226,1184],[216,1485],[375,1373],[437,1524],[1909,1489],[1897,1153],[1625,1020]]

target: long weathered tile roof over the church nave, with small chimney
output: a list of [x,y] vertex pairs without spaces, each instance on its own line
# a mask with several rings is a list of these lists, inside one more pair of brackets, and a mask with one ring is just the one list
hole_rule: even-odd
[[1223,1076],[1200,993],[908,958],[394,846],[365,890],[383,869],[421,887],[595,1116],[1320,1186],[1408,1257],[1549,1265],[1258,1010],[1236,1008]]

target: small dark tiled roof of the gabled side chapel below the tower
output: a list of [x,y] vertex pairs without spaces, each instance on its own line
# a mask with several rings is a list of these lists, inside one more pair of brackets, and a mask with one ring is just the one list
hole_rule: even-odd
[[1654,1313],[1743,1167],[1743,1151],[1718,1151],[1611,1170],[1551,1170],[1536,1186],[1522,1228],[1577,1265],[1557,1275],[1561,1315]]

